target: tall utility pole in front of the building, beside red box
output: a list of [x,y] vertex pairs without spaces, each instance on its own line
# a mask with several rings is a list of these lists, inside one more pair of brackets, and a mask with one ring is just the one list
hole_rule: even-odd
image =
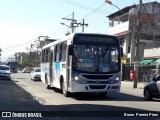
[[141,30],[141,6],[142,6],[142,0],[139,1],[139,7],[138,7],[138,20],[137,20],[137,31],[136,31],[136,41],[135,41],[135,72],[136,77],[133,81],[133,88],[137,88],[137,81],[138,81],[138,64],[136,63],[139,61],[139,40],[140,40],[140,30]]

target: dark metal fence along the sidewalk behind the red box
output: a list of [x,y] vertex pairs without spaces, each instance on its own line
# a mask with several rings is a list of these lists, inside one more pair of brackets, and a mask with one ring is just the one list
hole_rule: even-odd
[[[157,65],[146,65],[139,63],[138,81],[143,81],[144,73],[149,69],[156,69]],[[122,80],[130,80],[130,70],[134,70],[134,64],[128,63],[122,65]]]

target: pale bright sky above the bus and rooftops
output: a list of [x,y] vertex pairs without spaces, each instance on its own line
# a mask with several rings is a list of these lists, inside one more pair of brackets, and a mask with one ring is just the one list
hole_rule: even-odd
[[[31,43],[39,36],[61,39],[67,31],[72,18],[77,22],[88,24],[85,32],[106,33],[108,18],[106,16],[118,11],[105,0],[0,0],[0,48],[1,61],[13,57],[15,52],[29,52]],[[153,2],[155,0],[143,0]],[[160,0],[157,0],[160,2]],[[138,4],[139,0],[112,0],[120,9]],[[81,32],[78,27],[76,32]]]

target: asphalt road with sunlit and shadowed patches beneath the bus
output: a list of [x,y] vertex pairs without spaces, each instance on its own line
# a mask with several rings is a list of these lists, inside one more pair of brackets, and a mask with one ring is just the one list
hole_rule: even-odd
[[[52,119],[107,120],[121,119],[122,115],[127,115],[123,119],[158,120],[160,117],[144,115],[148,114],[146,111],[160,111],[159,102],[144,101],[143,85],[133,89],[130,82],[122,82],[120,92],[110,92],[105,98],[96,94],[74,94],[66,98],[59,90],[45,89],[41,81],[31,81],[29,74],[12,74],[11,81],[0,81],[1,111],[47,111]],[[143,117],[129,117],[133,115]]]

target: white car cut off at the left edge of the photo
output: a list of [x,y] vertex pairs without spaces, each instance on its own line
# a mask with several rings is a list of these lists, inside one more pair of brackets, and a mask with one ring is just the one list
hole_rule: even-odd
[[0,79],[11,80],[10,67],[7,65],[0,65]]

